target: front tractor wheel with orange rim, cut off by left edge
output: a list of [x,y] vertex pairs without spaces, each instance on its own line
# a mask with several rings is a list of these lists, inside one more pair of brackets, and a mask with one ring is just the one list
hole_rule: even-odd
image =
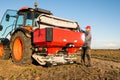
[[10,58],[9,40],[4,39],[0,44],[0,60],[7,60]]

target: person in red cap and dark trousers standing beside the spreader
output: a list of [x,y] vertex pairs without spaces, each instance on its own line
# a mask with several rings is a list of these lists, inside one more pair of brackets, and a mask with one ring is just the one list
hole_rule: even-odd
[[82,54],[81,54],[81,63],[82,65],[85,65],[85,56],[87,57],[87,66],[91,66],[91,55],[90,55],[90,50],[91,50],[91,26],[86,26],[86,31],[85,33],[85,43],[84,46],[82,47]]

